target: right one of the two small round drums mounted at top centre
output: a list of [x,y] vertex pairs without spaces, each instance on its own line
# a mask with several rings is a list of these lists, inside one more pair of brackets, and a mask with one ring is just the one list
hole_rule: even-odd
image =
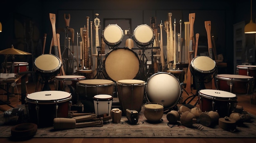
[[133,31],[133,40],[138,46],[148,46],[153,42],[155,35],[153,29],[147,24],[141,24]]

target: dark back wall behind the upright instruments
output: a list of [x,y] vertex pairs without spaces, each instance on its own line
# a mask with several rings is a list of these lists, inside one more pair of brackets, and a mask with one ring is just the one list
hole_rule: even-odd
[[[91,21],[95,18],[95,13],[100,14],[101,20],[131,18],[131,31],[139,24],[150,24],[150,17],[157,17],[159,24],[161,20],[167,20],[168,12],[172,12],[172,20],[176,18],[178,23],[180,19],[183,22],[188,21],[189,13],[195,13],[194,33],[200,34],[202,44],[205,44],[206,40],[204,21],[211,20],[211,33],[218,37],[217,52],[222,53],[224,62],[227,62],[227,73],[234,72],[233,24],[241,21],[248,23],[250,20],[250,0],[4,0],[2,3],[7,10],[0,10],[0,22],[3,25],[0,49],[9,48],[13,44],[15,48],[33,53],[33,56],[16,58],[29,62],[30,67],[33,59],[41,54],[44,33],[47,33],[45,52],[49,51],[52,37],[49,13],[56,14],[57,29],[65,26],[63,13],[72,13],[70,27],[74,28],[75,32],[86,24],[86,16],[89,16]],[[256,7],[256,2],[253,2],[253,7]],[[255,11],[256,9],[253,10],[253,20],[256,17]],[[103,29],[101,21],[101,30]],[[179,30],[178,24],[176,30]],[[182,34],[184,35],[184,30]],[[246,36],[249,41],[254,41],[254,35]],[[166,38],[165,35],[163,37]],[[76,42],[74,44],[76,45]],[[3,61],[4,56],[0,56]]]

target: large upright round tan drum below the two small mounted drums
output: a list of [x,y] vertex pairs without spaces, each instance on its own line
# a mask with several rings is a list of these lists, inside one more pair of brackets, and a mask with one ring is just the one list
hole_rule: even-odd
[[129,48],[116,48],[106,55],[105,70],[110,79],[134,79],[139,73],[139,57]]

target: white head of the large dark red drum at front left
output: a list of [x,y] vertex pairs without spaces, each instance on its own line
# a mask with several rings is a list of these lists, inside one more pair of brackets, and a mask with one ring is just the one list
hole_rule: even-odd
[[50,90],[50,91],[39,91],[34,92],[31,94],[28,94],[26,97],[26,101],[30,103],[61,103],[67,100],[70,100],[71,94],[65,91],[56,91],[56,90]]

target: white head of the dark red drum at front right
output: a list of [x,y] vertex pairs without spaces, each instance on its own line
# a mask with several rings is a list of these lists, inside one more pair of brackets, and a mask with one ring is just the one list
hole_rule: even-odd
[[208,99],[228,99],[234,101],[237,96],[231,92],[215,90],[215,89],[202,89],[199,90],[199,95]]

